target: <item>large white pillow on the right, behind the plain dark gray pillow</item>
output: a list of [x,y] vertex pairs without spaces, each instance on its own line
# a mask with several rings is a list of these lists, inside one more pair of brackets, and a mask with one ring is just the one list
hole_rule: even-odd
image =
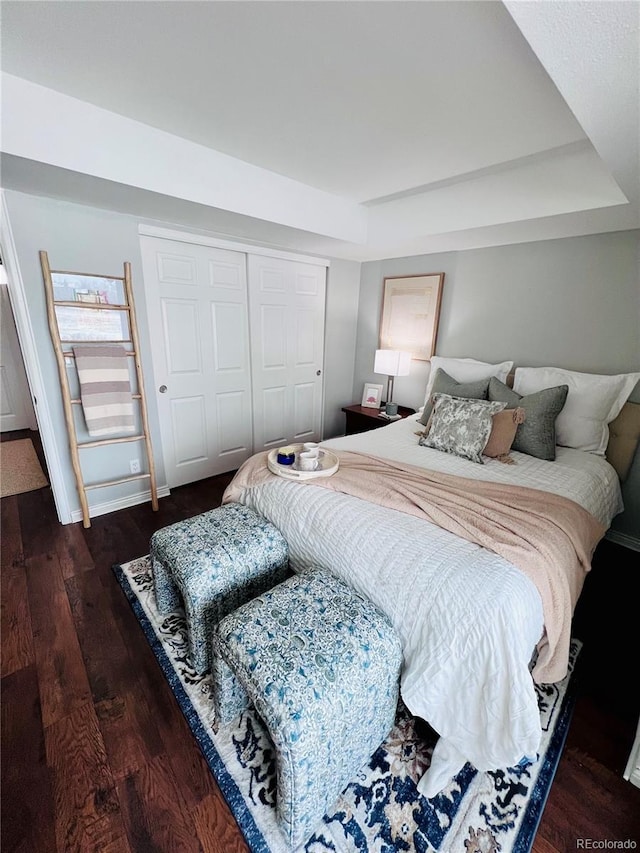
[[543,388],[568,385],[567,402],[556,420],[556,441],[562,447],[604,456],[609,427],[627,401],[640,373],[604,376],[560,367],[518,367],[513,390],[535,394]]

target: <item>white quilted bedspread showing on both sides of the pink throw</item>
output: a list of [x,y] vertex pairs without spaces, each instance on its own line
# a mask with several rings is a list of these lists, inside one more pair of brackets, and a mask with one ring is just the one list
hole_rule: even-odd
[[[617,475],[601,457],[558,448],[555,462],[514,453],[485,465],[419,447],[415,418],[324,442],[470,479],[568,497],[605,526],[621,511]],[[404,649],[402,698],[441,735],[420,782],[440,791],[466,761],[479,770],[535,757],[540,716],[529,663],[542,605],[518,569],[430,522],[348,495],[273,478],[243,503],[278,527],[296,570],[321,566],[391,619]]]

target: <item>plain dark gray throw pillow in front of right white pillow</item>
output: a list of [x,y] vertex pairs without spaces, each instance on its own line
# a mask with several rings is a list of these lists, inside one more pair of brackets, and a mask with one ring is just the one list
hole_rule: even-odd
[[521,407],[526,413],[525,422],[518,426],[511,449],[549,462],[556,458],[556,418],[568,393],[568,385],[556,385],[523,397],[495,376],[489,380],[490,400],[506,403],[510,409]]

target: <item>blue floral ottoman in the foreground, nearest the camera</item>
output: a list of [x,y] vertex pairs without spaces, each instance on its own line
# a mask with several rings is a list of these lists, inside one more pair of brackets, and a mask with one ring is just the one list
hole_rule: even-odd
[[214,651],[269,731],[278,821],[296,848],[389,733],[400,641],[373,604],[313,570],[225,617]]

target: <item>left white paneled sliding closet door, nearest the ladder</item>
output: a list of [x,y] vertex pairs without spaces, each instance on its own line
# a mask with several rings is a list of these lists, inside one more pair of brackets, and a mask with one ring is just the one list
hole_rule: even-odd
[[251,454],[246,255],[141,237],[168,485]]

